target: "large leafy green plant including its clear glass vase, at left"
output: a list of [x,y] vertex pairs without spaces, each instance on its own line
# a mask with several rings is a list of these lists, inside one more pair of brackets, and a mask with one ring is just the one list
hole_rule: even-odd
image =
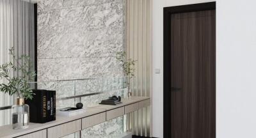
[[[0,84],[0,91],[17,96],[17,103],[12,107],[13,129],[28,128],[29,106],[24,104],[24,100],[32,99],[35,95],[29,82],[35,78],[36,73],[29,56],[15,56],[13,48],[9,52],[13,61],[0,66],[0,79],[6,82]],[[13,72],[19,75],[13,76]]]

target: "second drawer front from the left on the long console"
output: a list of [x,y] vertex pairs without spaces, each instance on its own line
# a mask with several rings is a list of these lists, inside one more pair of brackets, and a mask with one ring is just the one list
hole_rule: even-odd
[[63,137],[81,130],[81,119],[48,128],[47,138]]

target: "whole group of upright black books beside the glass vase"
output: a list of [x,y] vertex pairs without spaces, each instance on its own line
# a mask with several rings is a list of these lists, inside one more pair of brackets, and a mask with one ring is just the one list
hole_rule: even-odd
[[46,123],[56,120],[56,91],[35,89],[33,93],[33,100],[25,101],[29,105],[30,122]]

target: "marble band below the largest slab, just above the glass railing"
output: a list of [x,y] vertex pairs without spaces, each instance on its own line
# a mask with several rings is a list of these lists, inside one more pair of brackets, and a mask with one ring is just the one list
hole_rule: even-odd
[[38,81],[89,79],[122,73],[115,57],[38,59]]

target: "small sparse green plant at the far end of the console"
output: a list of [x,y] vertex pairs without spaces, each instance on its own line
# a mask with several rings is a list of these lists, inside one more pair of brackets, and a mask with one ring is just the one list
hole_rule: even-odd
[[125,81],[127,88],[128,88],[128,97],[132,96],[131,86],[129,83],[129,79],[135,77],[134,72],[136,70],[135,63],[136,60],[134,59],[127,59],[127,54],[124,51],[116,52],[116,59],[122,63],[122,67],[124,69],[124,75],[127,78]]

